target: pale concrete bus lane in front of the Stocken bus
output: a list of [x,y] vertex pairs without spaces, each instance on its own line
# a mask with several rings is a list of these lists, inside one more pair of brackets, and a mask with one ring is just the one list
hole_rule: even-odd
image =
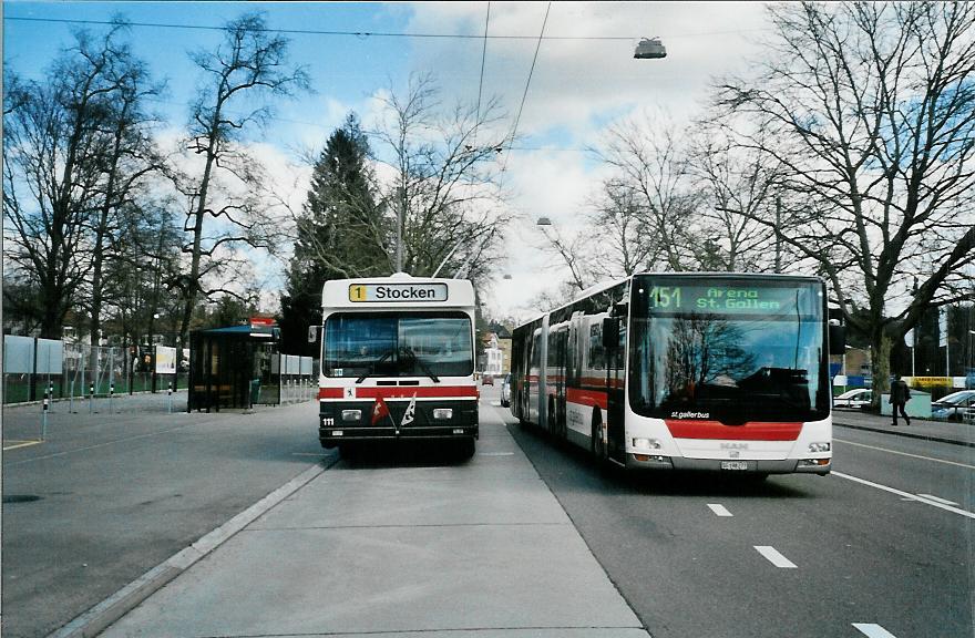
[[494,410],[470,461],[321,473],[104,636],[647,636]]

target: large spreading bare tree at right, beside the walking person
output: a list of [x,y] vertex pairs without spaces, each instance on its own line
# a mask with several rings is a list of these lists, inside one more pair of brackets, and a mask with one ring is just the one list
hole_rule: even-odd
[[781,164],[802,204],[783,239],[869,336],[884,390],[890,339],[973,295],[975,4],[784,3],[770,14],[777,38],[760,74],[721,83],[718,104],[768,134],[740,143]]

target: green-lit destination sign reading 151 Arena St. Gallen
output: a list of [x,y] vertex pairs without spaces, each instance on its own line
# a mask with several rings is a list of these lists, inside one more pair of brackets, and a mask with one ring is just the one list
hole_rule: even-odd
[[814,312],[813,288],[800,289],[764,286],[651,286],[647,303],[650,311],[715,312],[730,315],[796,312],[797,302],[803,313]]

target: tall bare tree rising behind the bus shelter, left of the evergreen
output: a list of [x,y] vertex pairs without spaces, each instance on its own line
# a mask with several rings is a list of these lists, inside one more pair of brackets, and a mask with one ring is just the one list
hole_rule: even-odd
[[[205,289],[203,282],[232,264],[234,247],[274,245],[279,228],[266,215],[260,197],[260,163],[237,142],[245,128],[271,114],[265,99],[290,96],[308,88],[304,69],[290,68],[287,58],[288,40],[269,32],[256,13],[229,22],[215,51],[193,55],[205,81],[193,104],[188,147],[201,156],[203,166],[193,186],[184,187],[189,202],[184,224],[189,234],[185,247],[189,265],[175,282],[185,299],[179,328],[184,342],[201,294],[232,292],[219,285]],[[225,189],[222,178],[228,181]]]

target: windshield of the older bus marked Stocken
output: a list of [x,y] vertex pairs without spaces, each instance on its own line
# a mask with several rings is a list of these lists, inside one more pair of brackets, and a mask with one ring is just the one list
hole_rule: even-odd
[[463,312],[338,312],[325,322],[327,377],[466,377],[474,371]]

